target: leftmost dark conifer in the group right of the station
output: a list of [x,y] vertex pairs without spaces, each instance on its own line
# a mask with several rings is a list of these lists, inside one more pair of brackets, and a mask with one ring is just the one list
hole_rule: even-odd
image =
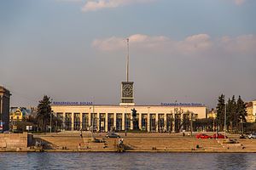
[[224,130],[224,112],[225,112],[225,97],[224,94],[221,94],[218,97],[218,105],[216,107],[217,117],[216,121],[220,131]]

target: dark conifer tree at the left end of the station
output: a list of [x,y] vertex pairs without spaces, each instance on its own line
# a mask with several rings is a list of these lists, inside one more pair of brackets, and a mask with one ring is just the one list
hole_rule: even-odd
[[51,102],[49,101],[49,97],[44,95],[44,98],[39,101],[38,104],[38,127],[41,131],[46,132],[46,126],[49,124],[50,114],[51,114]]

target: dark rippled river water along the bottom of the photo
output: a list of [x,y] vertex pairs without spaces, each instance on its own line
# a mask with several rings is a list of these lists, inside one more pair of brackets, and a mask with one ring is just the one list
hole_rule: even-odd
[[0,153],[0,169],[256,169],[256,154]]

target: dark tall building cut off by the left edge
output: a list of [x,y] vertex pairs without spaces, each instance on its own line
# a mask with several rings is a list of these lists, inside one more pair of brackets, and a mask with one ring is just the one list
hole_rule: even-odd
[[9,100],[10,92],[0,86],[0,131],[9,130]]

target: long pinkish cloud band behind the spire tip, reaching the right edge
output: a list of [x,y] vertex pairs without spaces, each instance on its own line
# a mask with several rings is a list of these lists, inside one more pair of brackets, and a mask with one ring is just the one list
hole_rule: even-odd
[[[135,34],[131,35],[129,39],[133,50],[159,54],[210,54],[214,51],[223,51],[229,54],[256,54],[255,35],[212,39],[207,34],[197,34],[176,41],[170,37]],[[125,50],[125,37],[95,39],[92,42],[92,47],[108,52]]]

